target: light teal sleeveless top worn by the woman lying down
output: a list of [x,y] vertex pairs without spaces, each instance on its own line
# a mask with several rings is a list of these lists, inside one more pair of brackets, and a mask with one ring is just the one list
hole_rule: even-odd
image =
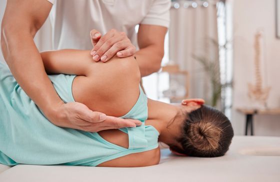
[[[35,75],[34,75],[35,76]],[[50,75],[56,92],[64,102],[73,102],[74,75]],[[142,121],[136,128],[122,128],[128,133],[129,148],[104,140],[96,132],[61,128],[49,122],[24,93],[10,71],[0,63],[0,163],[65,164],[96,166],[104,161],[158,146],[157,130],[144,124],[147,98],[140,90],[133,108],[122,118]]]

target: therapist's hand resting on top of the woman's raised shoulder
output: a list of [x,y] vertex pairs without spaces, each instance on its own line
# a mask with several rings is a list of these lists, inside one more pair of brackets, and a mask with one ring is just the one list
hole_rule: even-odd
[[93,46],[90,54],[94,61],[106,62],[114,55],[125,58],[136,52],[135,46],[131,44],[126,34],[115,29],[110,30],[103,36],[93,29],[90,31],[90,37]]

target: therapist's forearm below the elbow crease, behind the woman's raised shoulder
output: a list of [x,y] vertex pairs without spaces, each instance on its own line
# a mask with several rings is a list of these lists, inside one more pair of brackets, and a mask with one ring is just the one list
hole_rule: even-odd
[[163,54],[163,51],[158,51],[158,48],[153,45],[142,48],[135,53],[141,77],[150,75],[160,69]]

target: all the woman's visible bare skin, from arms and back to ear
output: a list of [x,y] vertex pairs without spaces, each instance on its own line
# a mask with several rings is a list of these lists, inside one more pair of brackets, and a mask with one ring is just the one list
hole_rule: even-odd
[[[79,75],[75,77],[72,85],[75,101],[108,115],[124,115],[139,96],[140,72],[136,60],[133,57],[113,57],[106,63],[91,62],[88,53],[89,51],[61,50],[41,53],[41,57],[48,73]],[[145,124],[156,128],[160,133],[159,141],[179,145],[176,138],[180,133],[183,118],[178,116],[171,124],[170,122],[180,112],[199,108],[202,100],[188,99],[183,103],[184,105],[171,105],[148,99],[148,119]],[[111,143],[128,147],[128,136],[120,130],[102,130],[98,133]],[[160,151],[156,148],[109,160],[99,166],[148,166],[158,164],[159,159]]]

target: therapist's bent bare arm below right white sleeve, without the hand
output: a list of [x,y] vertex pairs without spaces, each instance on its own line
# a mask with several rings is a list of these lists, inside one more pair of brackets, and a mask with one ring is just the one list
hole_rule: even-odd
[[135,57],[138,62],[141,77],[150,75],[160,69],[164,55],[164,38],[167,28],[155,25],[139,25],[139,51]]

